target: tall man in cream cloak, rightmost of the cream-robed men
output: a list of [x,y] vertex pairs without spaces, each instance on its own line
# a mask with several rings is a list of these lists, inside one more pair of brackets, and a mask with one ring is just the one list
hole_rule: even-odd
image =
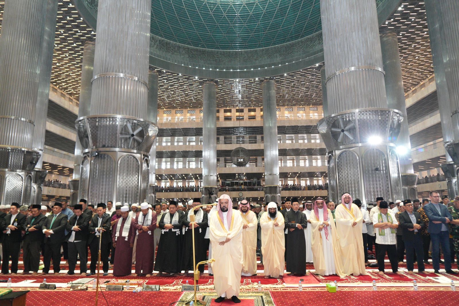
[[341,196],[341,205],[336,207],[336,230],[339,233],[341,262],[346,275],[366,275],[364,242],[362,239],[362,212],[352,203],[349,193]]

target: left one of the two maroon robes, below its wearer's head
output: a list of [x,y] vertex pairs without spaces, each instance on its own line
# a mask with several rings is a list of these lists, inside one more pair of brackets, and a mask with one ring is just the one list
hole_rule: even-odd
[[[134,219],[131,221],[131,228],[128,235],[128,240],[121,236],[123,232],[124,223],[129,217],[119,218],[115,224],[113,224],[112,230],[112,241],[116,242],[115,248],[115,262],[113,263],[113,276],[126,276],[132,272],[132,248],[129,244],[134,244],[135,228]],[[121,222],[119,229],[119,237],[116,237],[116,230],[118,222]],[[118,239],[117,239],[118,238]]]

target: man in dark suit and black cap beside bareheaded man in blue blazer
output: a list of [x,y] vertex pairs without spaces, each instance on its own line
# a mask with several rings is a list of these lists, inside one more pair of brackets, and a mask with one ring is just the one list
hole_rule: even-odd
[[402,229],[402,239],[406,249],[406,267],[408,273],[413,274],[414,252],[418,261],[418,271],[424,271],[424,248],[422,246],[421,228],[425,227],[420,214],[414,211],[411,201],[404,200],[404,212],[398,213],[398,227]]

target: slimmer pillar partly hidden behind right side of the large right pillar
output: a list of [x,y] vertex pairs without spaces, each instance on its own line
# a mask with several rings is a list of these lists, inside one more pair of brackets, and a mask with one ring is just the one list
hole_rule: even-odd
[[386,72],[384,80],[386,83],[387,107],[400,111],[403,114],[403,118],[405,118],[400,125],[400,134],[395,140],[400,160],[403,199],[414,199],[418,197],[416,189],[418,175],[414,174],[413,159],[411,158],[411,142],[409,141],[405,91],[403,89],[402,65],[398,52],[397,33],[388,30],[381,33],[380,38],[382,62],[384,71]]

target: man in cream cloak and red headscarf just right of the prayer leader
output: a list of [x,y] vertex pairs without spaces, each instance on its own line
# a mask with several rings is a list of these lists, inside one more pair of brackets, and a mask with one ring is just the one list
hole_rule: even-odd
[[244,249],[242,275],[252,276],[257,274],[257,215],[250,210],[247,200],[239,204],[239,212],[242,217],[242,247]]

